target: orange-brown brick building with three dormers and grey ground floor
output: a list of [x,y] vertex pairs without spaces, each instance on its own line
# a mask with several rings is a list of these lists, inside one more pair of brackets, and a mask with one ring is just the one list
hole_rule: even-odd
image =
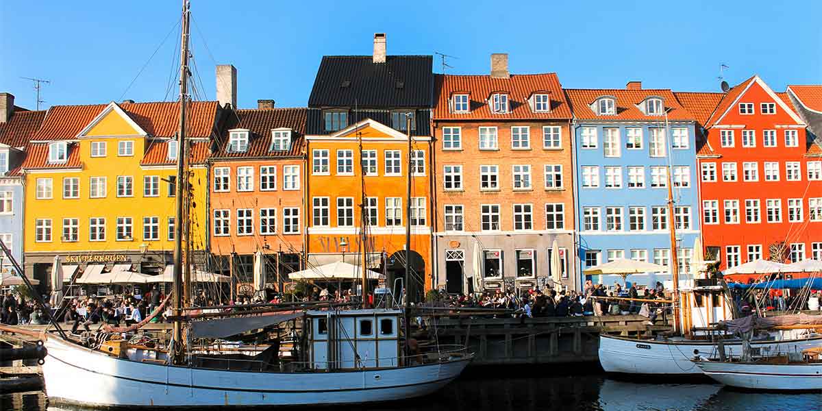
[[[570,106],[556,74],[437,75],[436,284],[450,293],[579,282],[574,251]],[[557,256],[554,255],[556,250]]]

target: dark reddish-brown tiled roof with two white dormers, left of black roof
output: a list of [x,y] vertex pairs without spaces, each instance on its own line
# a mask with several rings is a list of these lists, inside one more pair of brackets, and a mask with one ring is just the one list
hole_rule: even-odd
[[[302,136],[306,132],[307,109],[244,109],[229,113],[213,158],[247,158],[247,157],[293,157],[302,155]],[[229,130],[247,129],[248,150],[244,153],[228,152]],[[271,130],[289,128],[292,130],[291,150],[270,151]]]

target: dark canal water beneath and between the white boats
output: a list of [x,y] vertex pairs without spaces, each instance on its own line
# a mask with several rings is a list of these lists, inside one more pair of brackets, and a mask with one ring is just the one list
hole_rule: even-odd
[[[542,371],[540,371],[542,370]],[[77,387],[94,390],[94,387]],[[46,411],[42,394],[0,395],[0,410]],[[352,409],[344,406],[318,408]],[[309,410],[312,408],[301,408]],[[358,411],[822,411],[822,394],[751,393],[700,381],[622,381],[567,367],[476,368],[440,392]],[[48,407],[48,411],[76,410]]]

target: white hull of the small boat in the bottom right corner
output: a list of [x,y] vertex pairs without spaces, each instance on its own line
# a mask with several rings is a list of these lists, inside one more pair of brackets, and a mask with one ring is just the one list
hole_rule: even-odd
[[751,390],[822,390],[822,364],[758,364],[695,361],[706,376]]

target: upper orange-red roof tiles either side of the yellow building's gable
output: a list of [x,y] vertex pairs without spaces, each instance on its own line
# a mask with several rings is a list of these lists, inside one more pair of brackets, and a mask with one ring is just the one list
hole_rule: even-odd
[[[63,105],[48,109],[45,121],[33,141],[72,140],[108,104]],[[118,104],[140,127],[155,137],[171,137],[179,128],[177,102]],[[193,101],[188,107],[187,135],[208,137],[215,126],[218,103]]]

